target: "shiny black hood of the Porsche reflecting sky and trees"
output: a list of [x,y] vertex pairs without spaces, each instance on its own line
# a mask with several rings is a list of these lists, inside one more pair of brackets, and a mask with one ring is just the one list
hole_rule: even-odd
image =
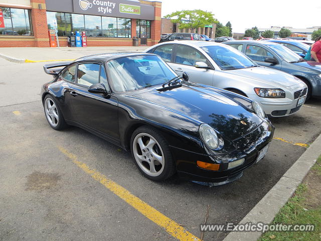
[[244,136],[262,123],[262,119],[245,106],[202,85],[183,84],[165,91],[158,88],[135,94],[135,97],[166,106],[196,123],[206,123],[229,141]]

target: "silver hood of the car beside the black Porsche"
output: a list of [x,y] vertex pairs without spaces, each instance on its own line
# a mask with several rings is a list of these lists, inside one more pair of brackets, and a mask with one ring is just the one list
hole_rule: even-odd
[[287,74],[280,70],[275,70],[262,66],[245,69],[232,69],[226,71],[243,77],[252,78],[253,80],[257,81],[258,84],[269,83],[274,86],[289,87],[300,83],[299,80],[295,79],[295,77],[290,74]]

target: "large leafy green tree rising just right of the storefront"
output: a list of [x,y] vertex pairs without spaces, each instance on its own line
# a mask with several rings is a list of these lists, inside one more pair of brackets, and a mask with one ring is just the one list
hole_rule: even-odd
[[178,23],[180,29],[190,29],[191,33],[193,33],[194,29],[216,23],[217,20],[213,16],[212,12],[203,10],[183,10],[168,14],[164,18],[176,17],[177,19],[172,19],[173,23]]

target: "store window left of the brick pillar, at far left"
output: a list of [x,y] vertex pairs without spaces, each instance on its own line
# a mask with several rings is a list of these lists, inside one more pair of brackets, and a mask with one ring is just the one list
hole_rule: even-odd
[[29,10],[12,8],[0,9],[2,9],[5,23],[5,28],[0,29],[0,35],[33,35]]

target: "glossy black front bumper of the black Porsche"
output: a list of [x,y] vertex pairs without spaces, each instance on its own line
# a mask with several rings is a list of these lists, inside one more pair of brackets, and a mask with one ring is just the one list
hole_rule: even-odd
[[[267,126],[269,130],[266,130]],[[205,155],[176,147],[171,147],[171,151],[180,177],[196,182],[225,184],[240,178],[243,170],[256,163],[259,152],[272,141],[273,134],[274,127],[263,123],[251,133],[234,140],[236,151],[227,154]],[[229,162],[241,158],[245,159],[242,165],[227,169]],[[216,159],[219,161],[215,161]],[[211,171],[200,168],[197,166],[197,161],[219,163],[220,169]]]

